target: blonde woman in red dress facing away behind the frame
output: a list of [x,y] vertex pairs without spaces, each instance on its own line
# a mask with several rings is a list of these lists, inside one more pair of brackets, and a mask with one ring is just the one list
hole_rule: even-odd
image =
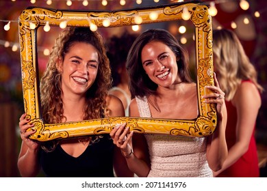
[[226,139],[229,154],[216,177],[259,177],[254,131],[263,88],[238,36],[215,30],[214,70],[227,106]]

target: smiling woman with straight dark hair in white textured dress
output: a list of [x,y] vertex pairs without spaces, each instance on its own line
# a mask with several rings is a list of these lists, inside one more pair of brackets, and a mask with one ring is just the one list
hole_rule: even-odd
[[[131,117],[196,119],[196,83],[190,78],[188,53],[163,29],[142,33],[127,57]],[[216,104],[216,131],[203,138],[163,134],[133,134],[125,124],[110,133],[133,173],[139,177],[212,177],[227,157],[224,93],[215,86],[205,102]]]

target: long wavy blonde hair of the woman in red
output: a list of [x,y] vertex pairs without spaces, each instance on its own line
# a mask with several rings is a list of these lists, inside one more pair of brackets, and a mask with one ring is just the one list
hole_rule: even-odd
[[257,83],[257,72],[244,52],[238,36],[229,29],[213,31],[213,53],[220,88],[225,99],[232,100],[242,80],[251,80],[262,93],[263,87]]

